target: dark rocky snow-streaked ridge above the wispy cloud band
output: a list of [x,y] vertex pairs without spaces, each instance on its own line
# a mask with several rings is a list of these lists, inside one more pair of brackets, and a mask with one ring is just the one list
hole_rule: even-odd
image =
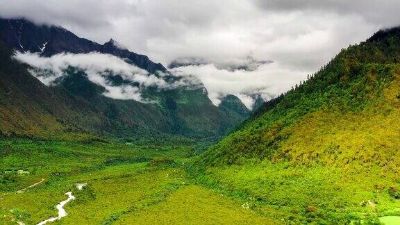
[[165,72],[160,63],[153,63],[147,56],[133,53],[117,46],[111,39],[101,45],[84,38],[79,38],[65,28],[53,25],[36,25],[26,19],[1,19],[0,40],[8,47],[18,51],[40,53],[53,56],[56,53],[89,53],[97,51],[110,53],[120,58],[128,58],[134,65],[151,73]]

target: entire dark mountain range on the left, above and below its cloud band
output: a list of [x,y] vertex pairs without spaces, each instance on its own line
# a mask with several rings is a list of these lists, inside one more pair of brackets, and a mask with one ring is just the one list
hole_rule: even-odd
[[[112,39],[98,44],[60,26],[37,25],[26,19],[0,19],[0,31],[1,135],[219,138],[250,113],[233,95],[223,99],[221,105],[213,105],[201,83],[195,88],[143,88],[142,95],[151,100],[147,103],[104,96],[106,90],[78,67],[64,69],[63,76],[47,86],[31,74],[31,65],[15,60],[15,51],[37,53],[43,58],[60,53],[110,54],[167,83],[181,78]],[[47,71],[39,73],[46,76]],[[120,74],[105,77],[116,88],[139,85]]]

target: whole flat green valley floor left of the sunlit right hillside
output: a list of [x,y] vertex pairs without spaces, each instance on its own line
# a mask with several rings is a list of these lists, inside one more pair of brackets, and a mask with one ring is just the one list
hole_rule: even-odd
[[[76,199],[53,224],[272,222],[242,208],[240,199],[191,184],[181,167],[190,162],[190,147],[31,140],[3,140],[0,147],[0,224],[56,217],[55,206],[69,191]],[[76,183],[87,185],[78,190]]]

